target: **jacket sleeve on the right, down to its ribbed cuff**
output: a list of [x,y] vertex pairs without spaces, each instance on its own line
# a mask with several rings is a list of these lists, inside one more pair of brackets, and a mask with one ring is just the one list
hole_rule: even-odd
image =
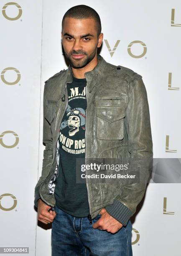
[[[128,136],[129,164],[132,172],[139,172],[139,182],[124,184],[120,195],[117,195],[112,205],[107,205],[107,212],[123,225],[127,225],[136,207],[143,199],[150,176],[153,161],[153,142],[150,127],[148,98],[142,78],[134,79],[130,93],[130,101],[125,115],[125,125]],[[128,170],[129,172],[129,170]]]

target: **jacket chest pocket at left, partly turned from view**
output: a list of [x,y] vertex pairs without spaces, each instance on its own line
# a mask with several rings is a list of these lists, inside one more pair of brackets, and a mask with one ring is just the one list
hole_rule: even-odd
[[48,123],[51,125],[51,130],[55,126],[55,116],[56,116],[56,110],[58,106],[58,100],[48,100],[47,99],[47,110],[45,113],[45,118],[48,121]]

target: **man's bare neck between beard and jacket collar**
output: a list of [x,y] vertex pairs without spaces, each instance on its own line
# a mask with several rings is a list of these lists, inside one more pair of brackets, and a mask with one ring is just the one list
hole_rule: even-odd
[[90,61],[85,67],[82,67],[80,69],[75,69],[72,67],[72,72],[74,74],[74,77],[76,78],[85,78],[85,73],[92,71],[94,69],[94,67],[97,66],[99,62],[99,59],[97,59],[97,54],[94,56],[94,59],[92,59],[92,61]]

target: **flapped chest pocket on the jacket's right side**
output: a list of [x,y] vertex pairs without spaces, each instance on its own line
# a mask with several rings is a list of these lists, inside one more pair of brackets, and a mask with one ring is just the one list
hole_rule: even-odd
[[97,104],[97,138],[122,140],[124,138],[125,108],[114,100]]

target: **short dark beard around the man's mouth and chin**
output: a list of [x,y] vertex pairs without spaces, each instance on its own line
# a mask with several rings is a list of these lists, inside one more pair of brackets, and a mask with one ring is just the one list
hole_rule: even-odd
[[[81,69],[85,67],[92,59],[94,59],[96,53],[97,53],[97,47],[92,51],[91,54],[87,54],[86,52],[83,51],[71,51],[69,54],[64,50],[66,58],[70,61],[71,66],[74,69]],[[72,54],[84,54],[83,59],[73,59]]]

